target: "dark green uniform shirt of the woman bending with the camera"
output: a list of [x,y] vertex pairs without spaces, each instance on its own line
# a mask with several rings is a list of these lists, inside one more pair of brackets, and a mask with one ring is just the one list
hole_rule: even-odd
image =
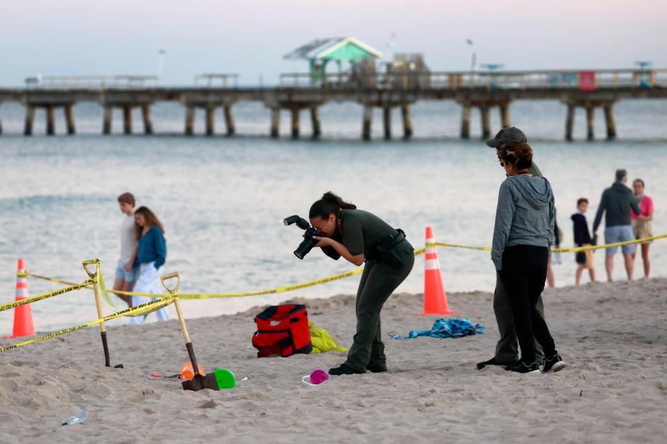
[[372,246],[384,241],[388,236],[395,236],[394,230],[385,221],[364,210],[343,210],[343,245],[349,254],[356,256],[368,252]]

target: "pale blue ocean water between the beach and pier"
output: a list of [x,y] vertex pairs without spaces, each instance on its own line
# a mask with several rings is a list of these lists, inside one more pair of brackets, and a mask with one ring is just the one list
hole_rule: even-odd
[[[381,116],[374,119],[372,142],[359,140],[361,107],[333,103],[322,108],[323,139],[304,136],[272,140],[269,110],[248,103],[235,108],[239,137],[224,137],[224,119],[217,114],[218,137],[184,137],[183,109],[175,104],[154,108],[156,135],[120,135],[120,114],[114,135],[103,137],[101,108],[83,103],[75,108],[78,134],[63,135],[57,114],[56,137],[43,135],[38,113],[35,136],[22,137],[24,108],[3,103],[0,117],[0,301],[14,299],[15,267],[26,259],[28,271],[81,282],[81,261],[99,257],[106,281],[113,282],[120,249],[116,197],[132,191],[138,205],[147,205],[163,221],[167,237],[165,271],[180,271],[181,291],[231,292],[270,289],[352,269],[319,251],[303,261],[293,255],[302,240],[295,227],[281,219],[307,216],[323,191],[333,190],[360,208],[403,228],[417,248],[427,225],[436,239],[453,244],[488,246],[493,234],[497,189],[504,180],[491,148],[479,139],[473,114],[472,139],[456,137],[459,108],[452,103],[421,103],[413,108],[415,139],[404,142],[400,114],[394,115],[395,140],[381,139]],[[579,197],[591,200],[592,224],[600,194],[625,168],[641,177],[654,198],[654,234],[667,233],[667,101],[623,101],[616,107],[619,139],[606,142],[598,114],[595,142],[584,142],[584,117],[577,114],[577,142],[563,142],[565,108],[559,103],[513,105],[513,124],[524,129],[535,161],[554,187],[562,246],[572,245],[570,214]],[[288,135],[288,115],[281,130]],[[500,127],[497,112],[491,121]],[[139,131],[140,115],[135,115]],[[195,130],[202,133],[203,116]],[[602,234],[602,230],[600,230]],[[447,291],[491,291],[495,273],[488,253],[440,248]],[[667,275],[667,240],[651,246],[652,275]],[[595,254],[598,278],[604,278],[604,253]],[[399,291],[419,292],[423,259]],[[573,254],[554,266],[557,286],[574,282]],[[636,276],[643,275],[641,264]],[[616,257],[617,279],[624,279]],[[294,293],[252,298],[183,302],[186,316],[233,313],[253,305],[293,296],[325,297],[354,293],[359,277]],[[584,275],[584,282],[587,278]],[[30,279],[31,294],[57,284]],[[120,304],[119,304],[120,305]],[[415,307],[418,311],[420,307]],[[489,307],[491,309],[491,307]],[[105,308],[108,311],[108,308]],[[174,314],[172,312],[172,314]],[[78,325],[96,318],[92,292],[82,290],[33,304],[40,331]],[[152,316],[154,318],[154,316]],[[112,323],[126,323],[120,319]],[[12,311],[0,314],[0,333],[10,332]]]

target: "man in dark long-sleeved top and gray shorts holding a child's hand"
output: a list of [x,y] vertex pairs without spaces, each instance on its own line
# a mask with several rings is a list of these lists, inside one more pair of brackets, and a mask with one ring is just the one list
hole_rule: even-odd
[[[602,213],[604,215],[604,243],[616,244],[616,242],[634,241],[634,231],[630,221],[630,210],[637,216],[641,214],[637,200],[625,183],[627,182],[627,171],[624,169],[616,170],[616,182],[611,187],[604,190],[600,198],[600,207],[595,214],[593,222],[593,237],[602,222]],[[625,259],[625,272],[627,280],[632,280],[632,271],[634,270],[634,258],[632,257],[636,245],[623,245],[620,247]],[[616,255],[618,246],[609,247],[604,255],[604,268],[607,270],[607,281],[611,282],[611,275],[614,273],[614,255]]]

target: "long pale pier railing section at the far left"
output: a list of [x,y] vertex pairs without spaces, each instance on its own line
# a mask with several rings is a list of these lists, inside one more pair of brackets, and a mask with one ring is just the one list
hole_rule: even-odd
[[143,89],[160,86],[158,76],[35,76],[26,78],[31,89]]

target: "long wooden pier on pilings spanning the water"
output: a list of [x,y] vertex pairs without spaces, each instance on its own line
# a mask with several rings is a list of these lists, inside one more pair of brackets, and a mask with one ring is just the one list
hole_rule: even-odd
[[[374,108],[383,110],[384,137],[390,139],[393,110],[400,109],[403,137],[413,135],[410,107],[418,101],[456,101],[461,105],[461,131],[470,137],[470,114],[479,108],[481,134],[491,135],[490,112],[498,110],[502,126],[511,126],[510,105],[520,100],[560,101],[567,106],[565,138],[573,139],[575,108],[586,110],[586,135],[592,140],[595,108],[604,109],[607,138],[616,137],[614,105],[623,99],[667,99],[667,69],[597,71],[495,71],[429,72],[427,74],[379,74],[360,77],[334,74],[314,80],[308,74],[282,74],[279,85],[238,87],[233,74],[204,74],[195,87],[161,87],[153,76],[45,77],[25,88],[0,88],[0,104],[18,101],[26,107],[24,135],[33,134],[35,110],[46,112],[46,133],[55,134],[56,110],[62,109],[67,134],[74,135],[73,107],[92,101],[104,108],[101,133],[111,133],[113,108],[123,110],[123,130],[133,133],[132,112],[140,110],[143,132],[153,134],[151,105],[178,101],[186,108],[183,132],[194,135],[195,111],[204,110],[206,135],[215,133],[215,109],[224,110],[227,136],[236,133],[233,106],[257,101],[271,110],[269,135],[279,137],[281,111],[290,113],[292,137],[301,135],[300,116],[311,117],[311,137],[322,135],[320,107],[329,101],[350,101],[363,108],[361,137],[371,137]],[[2,126],[0,121],[0,134]]]

